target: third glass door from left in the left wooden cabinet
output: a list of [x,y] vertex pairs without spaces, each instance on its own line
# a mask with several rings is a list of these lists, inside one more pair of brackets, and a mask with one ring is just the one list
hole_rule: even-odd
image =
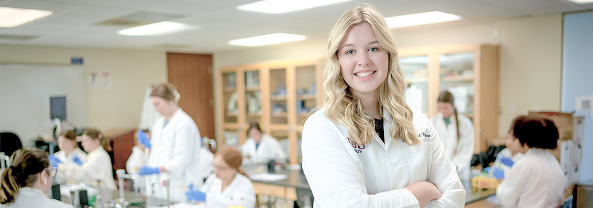
[[270,108],[272,124],[288,124],[286,69],[270,69]]

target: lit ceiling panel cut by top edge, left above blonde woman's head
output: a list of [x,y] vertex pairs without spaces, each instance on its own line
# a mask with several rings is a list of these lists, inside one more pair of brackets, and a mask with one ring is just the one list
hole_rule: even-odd
[[266,14],[284,14],[288,12],[300,11],[315,7],[323,7],[332,4],[339,4],[353,0],[263,0],[250,4],[237,6],[237,9],[243,11],[253,11]]

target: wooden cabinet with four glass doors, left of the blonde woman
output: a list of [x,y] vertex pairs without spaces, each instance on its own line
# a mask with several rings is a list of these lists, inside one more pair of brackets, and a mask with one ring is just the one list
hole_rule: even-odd
[[299,135],[307,116],[323,102],[323,59],[282,60],[218,69],[215,110],[217,143],[239,146],[249,123],[288,147],[290,164],[298,164]]

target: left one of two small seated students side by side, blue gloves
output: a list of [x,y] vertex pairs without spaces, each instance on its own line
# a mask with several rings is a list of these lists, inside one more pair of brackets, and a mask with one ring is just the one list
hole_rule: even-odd
[[[63,130],[58,136],[58,146],[60,147],[60,151],[50,155],[50,162],[55,161],[58,163],[63,162],[65,164],[74,164],[74,160],[81,162],[87,161],[87,153],[78,148],[76,131]],[[71,178],[72,175],[67,175],[65,172],[58,172],[58,175],[56,175],[56,181],[58,181],[58,183],[68,183],[68,180]]]

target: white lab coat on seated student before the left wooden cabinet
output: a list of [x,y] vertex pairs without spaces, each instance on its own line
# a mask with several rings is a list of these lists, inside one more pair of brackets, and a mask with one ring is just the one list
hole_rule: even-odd
[[276,162],[286,161],[286,154],[280,148],[278,139],[264,133],[262,133],[262,140],[260,140],[257,149],[256,140],[250,137],[241,145],[241,152],[253,163],[267,163],[272,159],[275,159]]

